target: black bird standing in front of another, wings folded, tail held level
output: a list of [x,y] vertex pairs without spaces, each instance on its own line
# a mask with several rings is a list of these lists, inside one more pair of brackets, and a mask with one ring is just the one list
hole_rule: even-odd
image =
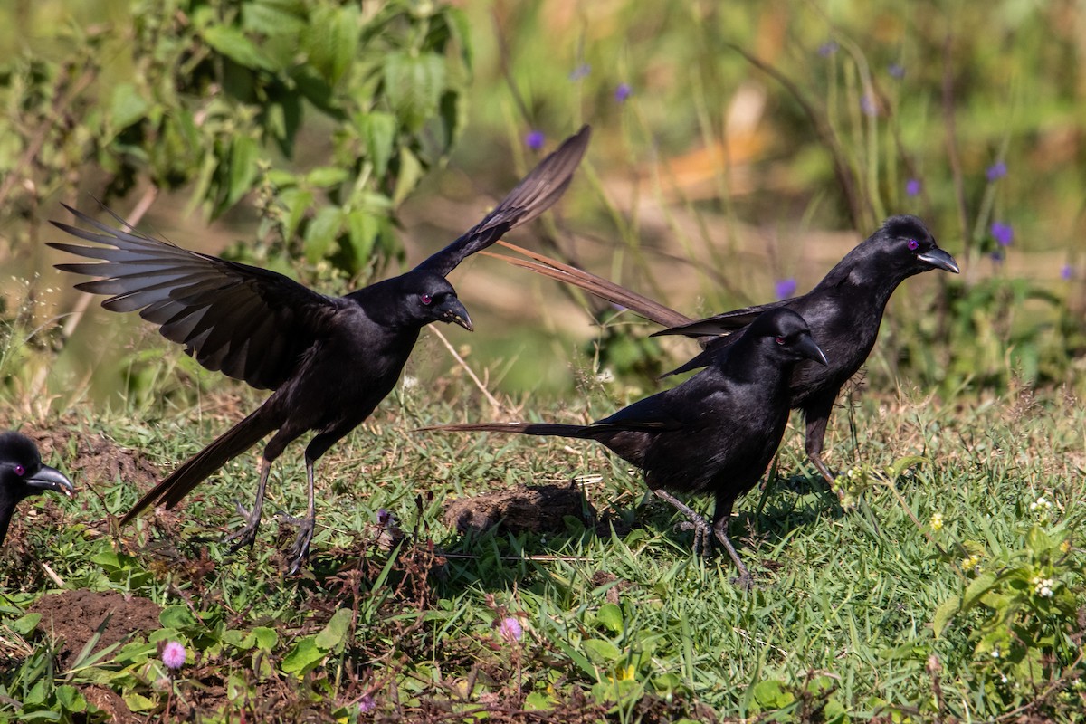
[[592,424],[446,424],[426,430],[516,432],[595,440],[641,468],[645,483],[685,513],[695,547],[710,525],[669,491],[711,494],[711,530],[748,585],[750,575],[728,538],[732,505],[758,482],[788,422],[788,373],[826,358],[804,318],[772,309],[752,321],[704,370]]

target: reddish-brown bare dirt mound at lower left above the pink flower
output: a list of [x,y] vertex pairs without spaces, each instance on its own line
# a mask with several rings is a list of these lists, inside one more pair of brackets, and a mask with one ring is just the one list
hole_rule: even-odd
[[149,598],[125,598],[118,593],[65,590],[42,596],[29,608],[40,613],[38,630],[64,642],[59,663],[67,669],[74,657],[79,656],[102,622],[109,622],[93,651],[124,640],[134,632],[151,632],[162,627],[159,614],[162,609]]

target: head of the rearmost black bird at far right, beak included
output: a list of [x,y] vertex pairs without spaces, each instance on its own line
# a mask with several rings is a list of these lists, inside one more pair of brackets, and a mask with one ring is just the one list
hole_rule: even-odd
[[851,265],[854,276],[873,275],[881,280],[901,281],[922,271],[943,269],[958,274],[958,263],[939,249],[924,223],[915,216],[891,216],[882,227],[845,258],[867,264]]

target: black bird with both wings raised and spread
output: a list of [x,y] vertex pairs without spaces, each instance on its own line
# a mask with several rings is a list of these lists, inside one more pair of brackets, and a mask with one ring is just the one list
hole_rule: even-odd
[[342,297],[319,294],[287,277],[256,267],[190,252],[146,237],[129,227],[114,229],[65,206],[96,230],[53,221],[75,237],[106,246],[51,243],[50,246],[104,264],[62,264],[58,268],[100,277],[77,284],[110,294],[102,306],[140,310],[160,325],[163,336],[210,370],[275,392],[253,414],[184,462],[144,495],[121,522],[152,505],[176,506],[193,487],[272,432],[264,448],[252,511],[238,504],[245,525],[228,539],[235,549],[252,545],[261,521],[272,463],[306,431],[316,435],[305,448],[308,508],[290,551],[290,572],[306,557],[316,519],[314,462],[369,417],[395,385],[422,327],[455,322],[471,331],[471,318],[445,279],[467,256],[494,243],[554,204],[572,179],[589,143],[584,126],[544,158],[477,226],[411,271]]

